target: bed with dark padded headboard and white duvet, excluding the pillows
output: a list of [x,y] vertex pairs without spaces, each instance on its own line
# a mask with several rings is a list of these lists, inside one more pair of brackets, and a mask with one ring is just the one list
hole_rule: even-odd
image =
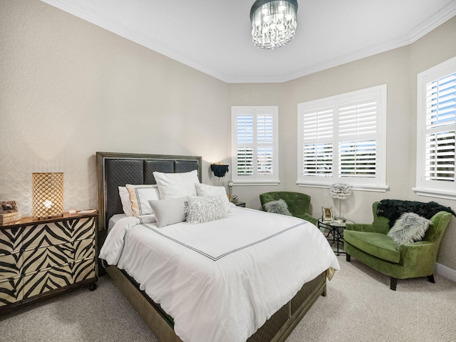
[[[200,183],[201,157],[97,152],[96,164],[98,247],[104,261],[99,274],[109,274],[161,342],[285,341],[318,297],[326,296],[326,279],[339,269],[338,261],[321,232],[304,220],[232,206],[226,217],[212,222],[160,227],[162,214],[144,214],[110,224],[124,213],[119,187],[155,185],[163,174],[197,175]],[[219,200],[212,195],[207,200]],[[190,203],[199,205],[203,198],[187,198],[190,219]],[[164,203],[175,200],[150,205],[166,212]],[[299,247],[284,249],[285,243]],[[315,260],[301,267],[304,258]],[[286,274],[285,269],[299,271]]]

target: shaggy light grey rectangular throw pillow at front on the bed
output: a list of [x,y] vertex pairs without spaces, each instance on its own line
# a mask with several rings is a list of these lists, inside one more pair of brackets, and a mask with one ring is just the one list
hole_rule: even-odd
[[228,217],[225,204],[219,195],[189,196],[185,203],[186,220],[190,224],[204,223]]

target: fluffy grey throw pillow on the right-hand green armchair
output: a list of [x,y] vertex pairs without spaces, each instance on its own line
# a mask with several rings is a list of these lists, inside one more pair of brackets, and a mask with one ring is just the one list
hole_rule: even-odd
[[410,244],[411,242],[421,241],[425,236],[430,221],[421,217],[414,212],[405,212],[394,222],[388,232],[388,237],[391,237],[398,244]]

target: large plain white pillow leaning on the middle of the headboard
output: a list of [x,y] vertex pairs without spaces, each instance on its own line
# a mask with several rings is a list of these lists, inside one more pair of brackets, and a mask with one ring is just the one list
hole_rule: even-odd
[[153,172],[160,199],[196,196],[195,183],[199,183],[198,170],[184,173]]

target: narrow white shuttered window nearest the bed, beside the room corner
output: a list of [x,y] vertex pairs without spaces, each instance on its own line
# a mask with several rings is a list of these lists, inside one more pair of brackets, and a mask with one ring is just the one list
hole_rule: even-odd
[[232,107],[232,179],[279,183],[277,107]]

